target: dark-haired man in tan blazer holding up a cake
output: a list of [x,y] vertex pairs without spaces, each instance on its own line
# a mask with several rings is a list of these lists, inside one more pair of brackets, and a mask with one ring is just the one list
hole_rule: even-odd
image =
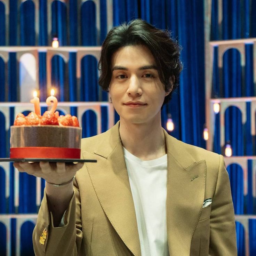
[[15,164],[47,181],[36,255],[237,255],[223,157],[161,127],[179,54],[167,31],[145,21],[114,27],[102,46],[99,84],[120,121],[81,145],[82,157],[97,163]]

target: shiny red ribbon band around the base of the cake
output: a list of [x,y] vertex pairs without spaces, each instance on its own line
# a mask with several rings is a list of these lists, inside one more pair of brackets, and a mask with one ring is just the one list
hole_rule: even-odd
[[76,158],[80,159],[80,149],[67,147],[11,147],[10,158]]

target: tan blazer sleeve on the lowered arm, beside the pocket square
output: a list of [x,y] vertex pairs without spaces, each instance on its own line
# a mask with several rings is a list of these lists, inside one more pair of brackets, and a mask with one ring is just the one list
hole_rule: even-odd
[[236,256],[237,240],[229,174],[222,155],[210,216],[210,256]]

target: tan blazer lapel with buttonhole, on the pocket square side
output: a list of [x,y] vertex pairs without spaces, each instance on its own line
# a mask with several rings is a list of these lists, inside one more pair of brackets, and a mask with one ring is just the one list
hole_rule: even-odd
[[190,255],[205,194],[206,161],[195,159],[183,142],[166,136],[167,143],[167,238],[170,255]]

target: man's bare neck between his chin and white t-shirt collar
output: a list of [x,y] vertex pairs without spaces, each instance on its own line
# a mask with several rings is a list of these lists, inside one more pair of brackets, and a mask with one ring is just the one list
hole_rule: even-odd
[[141,160],[153,160],[166,154],[161,119],[151,123],[128,123],[120,119],[122,145]]

